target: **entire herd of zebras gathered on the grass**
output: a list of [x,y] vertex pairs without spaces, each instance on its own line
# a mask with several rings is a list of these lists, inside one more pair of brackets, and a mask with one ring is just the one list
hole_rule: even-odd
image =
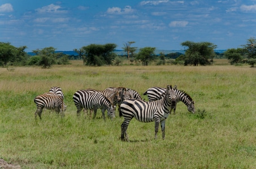
[[[176,104],[182,101],[189,112],[194,113],[194,101],[185,91],[178,90],[175,85],[167,85],[166,88],[151,87],[144,95],[147,95],[149,101],[142,100],[137,91],[127,87],[109,87],[99,91],[92,88],[78,90],[73,94],[73,102],[77,108],[77,116],[80,116],[81,110],[93,110],[93,118],[96,118],[97,109],[101,109],[102,117],[106,121],[105,111],[112,119],[115,117],[115,108],[118,106],[120,117],[124,117],[121,124],[121,140],[129,141],[127,128],[132,118],[140,122],[155,122],[155,139],[157,139],[159,124],[162,129],[162,138],[164,139],[165,121],[173,109],[176,111]],[[58,114],[64,116],[67,106],[63,102],[64,95],[60,87],[51,87],[49,92],[36,96],[34,103],[37,105],[35,117],[41,119],[42,110],[55,110]]]

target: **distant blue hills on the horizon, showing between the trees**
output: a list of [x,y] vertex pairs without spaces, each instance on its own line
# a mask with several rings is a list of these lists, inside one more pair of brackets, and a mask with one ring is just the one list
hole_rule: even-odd
[[[219,54],[222,54],[225,50],[215,50],[215,52],[218,52]],[[77,56],[77,53],[74,51],[55,51],[56,53],[63,53],[66,55],[74,55]],[[114,51],[118,55],[126,55],[127,53],[124,52],[123,50],[115,50]],[[137,53],[138,51],[136,51]],[[170,54],[170,53],[176,53],[179,52],[181,54],[185,54],[184,50],[155,50],[155,54],[160,54],[162,52],[163,54]],[[35,54],[33,52],[27,52],[28,55],[34,56]]]

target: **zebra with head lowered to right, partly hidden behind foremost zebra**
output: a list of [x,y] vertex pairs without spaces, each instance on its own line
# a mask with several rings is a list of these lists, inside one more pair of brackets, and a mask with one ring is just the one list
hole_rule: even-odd
[[[162,87],[151,87],[148,88],[146,92],[144,92],[143,95],[147,95],[149,98],[149,101],[154,101],[154,100],[159,100],[163,98],[164,92],[166,92],[166,88]],[[194,104],[195,101],[190,97],[185,91],[183,90],[177,90],[177,86],[173,87],[173,90],[176,93],[176,100],[177,102],[182,101],[186,106],[189,112],[194,113],[195,108]],[[176,104],[171,106],[170,113],[172,112],[173,109],[173,114],[175,114],[176,111]]]

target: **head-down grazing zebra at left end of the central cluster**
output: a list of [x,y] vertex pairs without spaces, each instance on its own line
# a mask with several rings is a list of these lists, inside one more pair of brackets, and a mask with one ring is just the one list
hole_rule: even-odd
[[77,116],[80,116],[81,110],[94,110],[93,119],[96,118],[97,109],[101,109],[102,116],[104,121],[105,118],[105,110],[107,109],[107,115],[109,115],[110,119],[112,120],[114,115],[114,106],[111,104],[109,100],[105,96],[103,96],[99,92],[89,92],[86,90],[78,90],[73,95],[73,101],[77,108]]

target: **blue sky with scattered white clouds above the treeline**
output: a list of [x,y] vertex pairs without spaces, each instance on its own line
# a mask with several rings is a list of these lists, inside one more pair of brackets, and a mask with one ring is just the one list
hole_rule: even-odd
[[26,51],[69,51],[134,41],[133,47],[182,50],[184,41],[237,48],[256,37],[256,0],[0,1],[0,42]]

